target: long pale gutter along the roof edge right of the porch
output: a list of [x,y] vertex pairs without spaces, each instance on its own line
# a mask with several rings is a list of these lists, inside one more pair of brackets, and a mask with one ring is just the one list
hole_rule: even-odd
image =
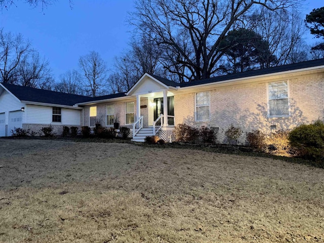
[[256,75],[256,76],[240,77],[240,78],[216,81],[213,83],[207,83],[207,84],[201,84],[201,85],[179,87],[178,90],[186,90],[186,89],[192,89],[192,88],[196,88],[196,87],[205,87],[205,86],[210,86],[210,85],[218,85],[218,84],[226,84],[226,83],[236,83],[236,82],[251,80],[251,79],[256,79],[256,78],[269,77],[269,76],[275,76],[275,75],[285,75],[285,74],[290,74],[290,73],[296,73],[296,71],[297,72],[312,71],[312,70],[316,70],[316,69],[318,69],[318,70],[324,69],[324,65],[316,66],[316,67],[307,67],[307,68],[302,68],[302,69],[294,69],[294,70],[283,71],[283,72],[267,73],[267,74],[261,74],[261,75]]

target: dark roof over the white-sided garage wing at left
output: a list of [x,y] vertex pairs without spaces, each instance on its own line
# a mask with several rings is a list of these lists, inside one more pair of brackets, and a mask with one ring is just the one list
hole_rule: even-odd
[[20,101],[27,102],[73,106],[76,103],[86,102],[93,98],[4,83],[1,83],[1,85],[5,87],[11,94],[16,96]]

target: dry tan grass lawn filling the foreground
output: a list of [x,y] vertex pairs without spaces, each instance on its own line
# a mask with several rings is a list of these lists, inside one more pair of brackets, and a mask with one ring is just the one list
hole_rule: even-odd
[[0,158],[0,242],[324,241],[323,169],[50,140]]

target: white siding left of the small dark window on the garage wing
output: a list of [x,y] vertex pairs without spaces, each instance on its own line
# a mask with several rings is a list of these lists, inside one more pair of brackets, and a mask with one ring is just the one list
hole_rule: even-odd
[[53,109],[50,106],[27,105],[25,113],[27,114],[26,124],[44,124],[52,123]]

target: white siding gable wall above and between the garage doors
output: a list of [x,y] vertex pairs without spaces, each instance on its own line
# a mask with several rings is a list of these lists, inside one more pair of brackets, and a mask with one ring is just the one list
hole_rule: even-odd
[[[6,112],[6,125],[8,125],[9,111],[20,110],[23,106],[23,103],[7,91],[4,91],[3,94],[0,95],[0,113]],[[24,120],[24,114],[22,118]]]

